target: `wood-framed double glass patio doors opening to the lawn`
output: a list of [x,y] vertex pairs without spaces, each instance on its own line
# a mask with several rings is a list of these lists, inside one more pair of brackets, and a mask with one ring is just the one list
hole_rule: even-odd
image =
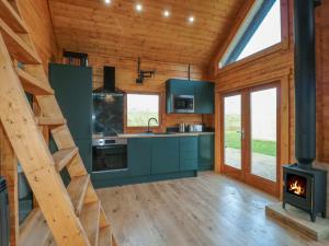
[[279,189],[279,86],[223,96],[223,173],[275,195]]

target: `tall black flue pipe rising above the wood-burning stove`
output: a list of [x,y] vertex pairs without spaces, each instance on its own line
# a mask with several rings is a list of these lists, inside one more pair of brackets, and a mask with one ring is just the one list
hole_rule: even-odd
[[295,0],[296,159],[310,168],[316,159],[315,8],[318,0]]

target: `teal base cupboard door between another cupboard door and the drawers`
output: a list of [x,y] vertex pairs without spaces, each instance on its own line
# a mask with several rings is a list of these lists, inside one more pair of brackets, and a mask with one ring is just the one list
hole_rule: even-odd
[[151,174],[180,171],[179,138],[152,138]]

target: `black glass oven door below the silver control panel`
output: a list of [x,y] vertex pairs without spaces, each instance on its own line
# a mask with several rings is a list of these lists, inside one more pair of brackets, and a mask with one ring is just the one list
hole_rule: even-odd
[[114,172],[127,169],[127,145],[99,145],[92,148],[92,172]]

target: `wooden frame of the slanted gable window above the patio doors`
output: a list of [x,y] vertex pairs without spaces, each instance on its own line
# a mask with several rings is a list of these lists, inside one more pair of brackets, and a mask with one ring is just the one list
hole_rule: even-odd
[[[220,49],[220,51],[218,52],[217,59],[215,60],[215,71],[219,72],[219,71],[226,71],[226,70],[230,70],[232,68],[242,66],[245,63],[248,63],[250,61],[253,61],[256,59],[259,59],[261,57],[268,56],[270,54],[273,54],[275,51],[279,50],[287,50],[290,48],[290,43],[288,43],[288,10],[290,10],[290,4],[288,4],[288,0],[279,0],[280,1],[280,8],[281,8],[281,42],[277,44],[274,44],[268,48],[264,48],[260,51],[257,51],[248,57],[245,57],[240,60],[237,61],[232,61],[232,62],[228,62],[231,55],[234,54],[234,50],[236,50],[237,46],[240,45],[241,49],[243,50],[243,48],[246,46],[243,46],[243,44],[248,43],[250,40],[250,38],[252,37],[252,35],[254,34],[254,32],[257,31],[257,28],[259,27],[259,25],[262,23],[263,19],[260,19],[264,13],[268,13],[265,10],[266,9],[262,9],[262,7],[264,5],[264,3],[262,3],[262,7],[258,10],[258,12],[256,13],[256,15],[253,16],[251,23],[247,26],[246,31],[243,32],[243,34],[241,35],[240,39],[237,42],[237,45],[232,48],[231,54],[228,56],[228,58],[226,59],[226,65],[224,67],[220,67],[220,61],[223,60],[223,58],[226,56],[227,51],[229,50],[232,42],[235,40],[236,36],[238,35],[240,28],[243,26],[243,24],[246,23],[247,17],[250,13],[250,11],[252,11],[253,4],[251,4],[251,7],[247,10],[245,16],[242,20],[240,20],[240,22],[238,23],[238,27],[236,28],[235,33],[232,33],[229,36],[229,39],[225,43],[225,48]],[[273,2],[274,4],[274,2]],[[273,5],[272,4],[272,5]],[[271,7],[272,7],[271,5]],[[265,7],[264,7],[265,8]],[[269,8],[269,7],[268,7]],[[260,13],[262,12],[262,13]],[[258,19],[258,20],[256,20]],[[259,22],[259,24],[258,24]],[[258,24],[258,25],[256,25]],[[254,28],[254,32],[252,33],[248,33],[248,31],[250,28]],[[250,36],[249,39],[243,40],[243,37],[248,35]],[[239,54],[240,55],[240,54]]]

